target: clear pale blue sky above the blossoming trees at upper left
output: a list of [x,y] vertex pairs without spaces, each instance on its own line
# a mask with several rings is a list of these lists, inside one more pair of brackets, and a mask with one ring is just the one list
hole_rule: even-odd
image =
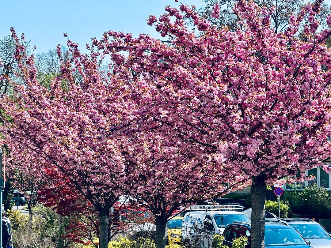
[[[203,4],[202,0],[181,2],[198,8]],[[325,2],[331,4],[331,0]],[[65,32],[82,50],[91,38],[101,38],[108,30],[161,38],[146,19],[150,14],[163,14],[166,5],[178,4],[174,0],[2,0],[0,39],[10,34],[13,26],[18,34],[25,33],[31,47],[37,46],[36,52],[42,53],[59,43],[66,45]]]

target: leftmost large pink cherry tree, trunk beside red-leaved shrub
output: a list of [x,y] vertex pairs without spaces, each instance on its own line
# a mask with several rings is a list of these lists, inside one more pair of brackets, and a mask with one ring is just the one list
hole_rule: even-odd
[[[61,75],[43,86],[36,79],[33,54],[25,55],[14,29],[12,37],[16,40],[15,59],[24,76],[24,86],[12,82],[15,94],[1,99],[7,115],[2,115],[3,138],[11,149],[32,150],[37,171],[41,172],[41,165],[45,165],[70,180],[70,186],[75,186],[98,212],[100,247],[107,247],[108,215],[122,193],[119,182],[125,180],[115,141],[133,121],[130,111],[134,105],[130,101],[122,104],[125,96],[116,94],[123,89],[121,81],[101,75],[97,55],[79,53],[77,44],[70,40],[72,57],[63,59]],[[62,58],[60,53],[59,46]],[[79,82],[72,77],[76,70],[83,78]],[[16,155],[24,161],[25,153]]]

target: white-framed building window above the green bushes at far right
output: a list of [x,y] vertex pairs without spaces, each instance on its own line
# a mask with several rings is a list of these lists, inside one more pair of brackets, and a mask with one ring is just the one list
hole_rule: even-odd
[[[302,190],[308,185],[317,184],[318,187],[323,187],[328,190],[331,190],[330,182],[331,176],[330,174],[323,171],[323,167],[318,167],[310,170],[306,170],[306,175],[315,176],[314,180],[306,181],[304,183],[295,182],[292,184],[286,184],[285,190]],[[300,177],[300,172],[297,173],[295,177]]]

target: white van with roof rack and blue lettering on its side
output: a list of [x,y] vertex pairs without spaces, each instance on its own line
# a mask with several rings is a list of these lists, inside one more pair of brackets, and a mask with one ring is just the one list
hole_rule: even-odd
[[214,234],[222,235],[225,227],[235,221],[250,222],[238,211],[191,211],[183,219],[182,238],[185,242],[200,243],[201,247],[212,247]]

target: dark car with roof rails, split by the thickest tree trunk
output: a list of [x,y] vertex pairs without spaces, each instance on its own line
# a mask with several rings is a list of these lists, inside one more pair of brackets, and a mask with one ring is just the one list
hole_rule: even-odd
[[[247,237],[247,245],[251,247],[251,224],[234,222],[225,227],[223,244],[232,247],[233,240],[241,236]],[[279,219],[265,219],[264,246],[272,248],[311,248],[301,234],[286,222]]]

